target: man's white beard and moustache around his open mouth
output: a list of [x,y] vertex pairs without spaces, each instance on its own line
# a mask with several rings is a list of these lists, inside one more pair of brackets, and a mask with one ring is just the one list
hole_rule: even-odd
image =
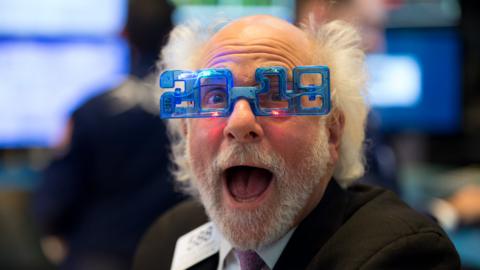
[[[294,226],[295,218],[325,176],[330,160],[325,128],[322,126],[319,130],[311,151],[299,157],[295,164],[286,164],[276,153],[257,145],[234,144],[220,152],[206,170],[196,170],[199,166],[192,166],[196,178],[191,183],[192,188],[200,195],[208,216],[232,246],[257,249],[280,239]],[[270,198],[253,211],[230,209],[222,202],[224,169],[243,162],[261,164],[273,173]],[[190,160],[190,164],[195,165],[195,162]]]

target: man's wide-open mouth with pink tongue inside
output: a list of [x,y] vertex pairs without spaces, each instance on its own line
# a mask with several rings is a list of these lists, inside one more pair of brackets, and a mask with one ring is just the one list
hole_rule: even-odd
[[228,189],[236,199],[247,200],[260,196],[268,187],[271,173],[252,167],[232,168],[229,173]]

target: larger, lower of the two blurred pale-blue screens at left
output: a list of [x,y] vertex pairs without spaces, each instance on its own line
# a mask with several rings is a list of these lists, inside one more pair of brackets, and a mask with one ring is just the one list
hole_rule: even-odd
[[123,40],[0,41],[0,147],[49,147],[71,111],[128,73]]

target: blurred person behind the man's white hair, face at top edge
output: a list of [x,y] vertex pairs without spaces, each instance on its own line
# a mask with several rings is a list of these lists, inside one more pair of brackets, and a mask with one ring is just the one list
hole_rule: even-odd
[[[298,0],[297,24],[309,17],[321,24],[340,19],[354,25],[362,37],[366,53],[385,48],[385,21],[390,7],[384,0]],[[380,119],[370,111],[366,128],[366,172],[361,181],[388,188],[401,195],[397,176],[397,159],[380,131]]]

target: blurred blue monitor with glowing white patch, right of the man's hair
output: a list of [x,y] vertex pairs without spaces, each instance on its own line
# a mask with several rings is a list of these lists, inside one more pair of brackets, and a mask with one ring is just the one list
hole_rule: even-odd
[[384,131],[453,133],[460,126],[461,52],[454,28],[391,29],[367,58],[369,100]]

